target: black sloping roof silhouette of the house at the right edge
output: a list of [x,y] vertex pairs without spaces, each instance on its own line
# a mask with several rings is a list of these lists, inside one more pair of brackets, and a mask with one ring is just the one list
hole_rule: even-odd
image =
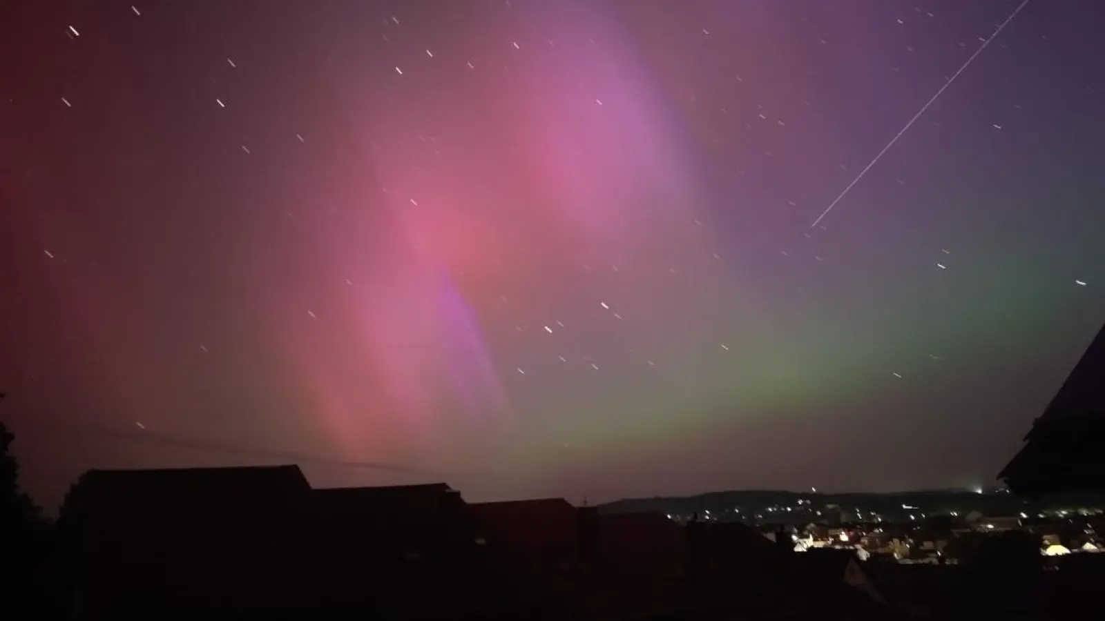
[[1105,327],[998,475],[1018,494],[1105,492]]

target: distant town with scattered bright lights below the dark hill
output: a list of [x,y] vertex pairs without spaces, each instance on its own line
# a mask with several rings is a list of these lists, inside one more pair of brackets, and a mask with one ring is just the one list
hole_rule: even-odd
[[[724,495],[724,494],[723,494]],[[722,506],[707,498],[623,501],[624,505],[671,503],[694,508],[665,512],[674,522],[738,522],[777,540],[789,536],[794,551],[818,548],[854,549],[861,560],[898,564],[955,565],[966,543],[975,537],[1018,531],[1039,540],[1046,557],[1094,554],[1105,548],[1105,511],[1096,498],[1072,498],[1030,506],[1004,490],[918,492],[914,494],[824,495],[811,490],[798,495],[782,492],[732,492],[728,495],[790,496],[770,504],[750,499]],[[909,498],[908,502],[898,502]],[[927,501],[927,502],[926,502]],[[708,506],[708,508],[706,508]]]

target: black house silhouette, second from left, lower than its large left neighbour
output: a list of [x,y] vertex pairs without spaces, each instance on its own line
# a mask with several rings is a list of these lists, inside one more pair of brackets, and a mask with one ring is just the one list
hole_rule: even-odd
[[315,490],[320,601],[386,619],[560,618],[560,599],[501,554],[448,485]]

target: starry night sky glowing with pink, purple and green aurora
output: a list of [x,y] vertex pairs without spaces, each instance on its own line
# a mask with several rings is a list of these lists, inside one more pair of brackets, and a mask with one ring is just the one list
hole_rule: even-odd
[[1105,320],[1097,0],[3,4],[48,506],[982,485]]

